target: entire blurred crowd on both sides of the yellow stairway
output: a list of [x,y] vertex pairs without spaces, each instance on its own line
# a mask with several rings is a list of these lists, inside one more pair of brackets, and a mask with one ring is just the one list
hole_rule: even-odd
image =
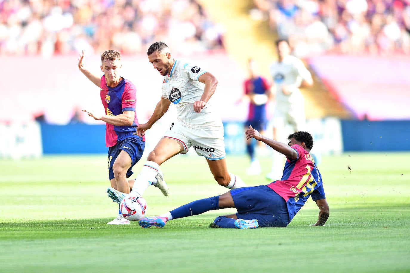
[[[254,0],[298,57],[410,53],[410,0]],[[196,0],[0,0],[0,54],[145,52],[156,41],[180,51],[223,48],[223,27]]]

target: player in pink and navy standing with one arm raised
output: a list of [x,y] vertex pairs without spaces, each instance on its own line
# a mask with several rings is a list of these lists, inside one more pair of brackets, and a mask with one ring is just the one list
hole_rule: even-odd
[[[136,108],[134,84],[121,77],[121,54],[115,50],[107,50],[101,55],[102,77],[92,74],[84,67],[84,50],[78,59],[78,68],[100,87],[100,97],[105,108],[101,115],[92,110],[83,109],[95,120],[106,124],[105,143],[108,148],[108,170],[111,187],[129,193],[134,180],[127,180],[132,175],[131,168],[140,160],[145,148],[145,137],[137,135],[139,125]],[[129,224],[121,213],[108,224]]]

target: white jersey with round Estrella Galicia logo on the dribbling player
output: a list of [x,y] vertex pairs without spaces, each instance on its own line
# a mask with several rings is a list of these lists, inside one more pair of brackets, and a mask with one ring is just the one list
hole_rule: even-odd
[[194,111],[194,102],[200,100],[205,88],[198,78],[206,72],[188,59],[175,60],[171,72],[164,76],[162,97],[175,104],[177,118],[183,124],[211,131],[214,127],[223,126],[221,117],[212,110],[212,104],[208,101],[201,113]]

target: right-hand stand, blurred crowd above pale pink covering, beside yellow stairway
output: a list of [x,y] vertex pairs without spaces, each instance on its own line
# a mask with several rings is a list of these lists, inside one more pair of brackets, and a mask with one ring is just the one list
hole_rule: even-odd
[[410,103],[404,91],[410,83],[403,77],[410,52],[408,1],[254,0],[253,4],[253,17],[266,20],[277,37],[288,38],[293,54],[319,76],[320,87],[305,90],[307,100],[320,97],[322,106],[334,108],[328,100],[322,102],[332,94],[345,108],[339,112],[347,114],[339,115],[342,118],[349,114],[370,120],[410,118],[399,110]]

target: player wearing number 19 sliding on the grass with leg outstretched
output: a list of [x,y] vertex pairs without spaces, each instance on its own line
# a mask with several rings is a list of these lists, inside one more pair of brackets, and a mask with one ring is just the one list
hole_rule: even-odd
[[167,221],[198,215],[209,210],[236,208],[237,213],[216,217],[211,227],[257,228],[285,227],[305,205],[309,196],[319,207],[319,217],[314,226],[323,226],[329,217],[329,205],[323,190],[322,177],[310,156],[313,138],[307,132],[289,135],[288,144],[261,135],[249,126],[246,138],[255,138],[286,156],[282,180],[269,185],[243,187],[220,196],[200,199],[160,216],[145,217],[139,221],[142,228],[162,228]]

